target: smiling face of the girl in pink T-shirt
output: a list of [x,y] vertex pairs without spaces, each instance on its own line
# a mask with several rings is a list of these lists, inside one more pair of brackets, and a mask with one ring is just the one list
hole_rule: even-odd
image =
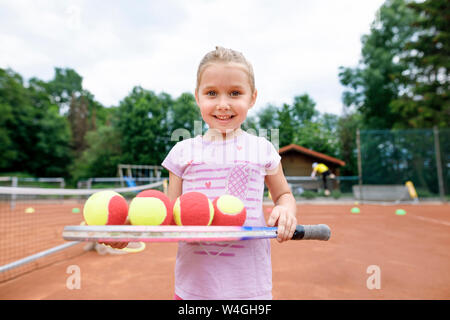
[[240,128],[256,95],[244,66],[212,63],[203,70],[195,99],[208,126],[225,134]]

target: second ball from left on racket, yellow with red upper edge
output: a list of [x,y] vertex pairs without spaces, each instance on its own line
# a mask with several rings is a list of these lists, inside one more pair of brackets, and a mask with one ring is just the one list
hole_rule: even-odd
[[131,200],[128,216],[132,225],[168,225],[172,221],[172,205],[161,191],[144,190]]

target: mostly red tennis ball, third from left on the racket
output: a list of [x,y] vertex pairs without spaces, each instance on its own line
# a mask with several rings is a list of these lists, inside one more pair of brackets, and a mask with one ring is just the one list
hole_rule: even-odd
[[173,219],[179,226],[209,226],[214,217],[214,206],[206,195],[187,192],[177,198]]

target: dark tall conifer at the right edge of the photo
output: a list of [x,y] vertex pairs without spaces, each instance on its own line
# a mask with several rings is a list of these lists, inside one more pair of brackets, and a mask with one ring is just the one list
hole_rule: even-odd
[[402,94],[392,102],[401,116],[397,127],[450,126],[450,2],[410,3],[419,17],[415,37],[405,45],[401,63],[408,69],[396,77]]

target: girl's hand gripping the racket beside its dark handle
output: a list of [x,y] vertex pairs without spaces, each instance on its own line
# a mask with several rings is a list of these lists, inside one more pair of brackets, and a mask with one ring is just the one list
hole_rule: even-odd
[[284,206],[275,206],[267,221],[269,227],[278,226],[277,241],[283,242],[292,239],[295,228],[297,227],[297,218],[295,212],[290,212]]

